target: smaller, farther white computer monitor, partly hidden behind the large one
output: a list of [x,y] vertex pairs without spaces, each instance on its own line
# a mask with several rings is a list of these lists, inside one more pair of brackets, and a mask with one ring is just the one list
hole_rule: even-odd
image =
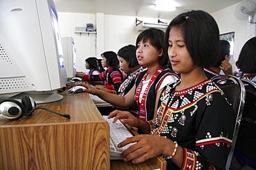
[[68,76],[68,79],[73,78],[76,73],[76,51],[73,37],[62,37],[62,47],[64,52],[66,74]]

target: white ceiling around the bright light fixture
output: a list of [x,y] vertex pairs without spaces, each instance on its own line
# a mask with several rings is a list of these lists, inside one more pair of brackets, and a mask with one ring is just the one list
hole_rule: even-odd
[[179,3],[175,12],[161,12],[151,6],[156,0],[53,0],[57,12],[77,12],[172,19],[187,10],[216,12],[242,0],[175,0]]

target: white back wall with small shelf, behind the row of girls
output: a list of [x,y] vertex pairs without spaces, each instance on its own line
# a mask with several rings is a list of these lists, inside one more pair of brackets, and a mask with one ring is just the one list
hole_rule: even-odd
[[[58,12],[61,36],[72,36],[77,51],[77,71],[87,72],[84,68],[84,59],[96,56],[101,59],[100,54],[106,51],[118,52],[118,50],[129,44],[135,45],[136,38],[140,32],[135,28],[136,17],[97,14],[82,14]],[[95,21],[98,19],[98,21]],[[138,17],[139,20],[157,23],[158,19]],[[161,20],[165,21],[166,20]],[[93,23],[97,34],[77,34],[75,27],[86,27],[86,23]],[[97,25],[95,23],[98,23]],[[103,33],[102,33],[103,32]]]

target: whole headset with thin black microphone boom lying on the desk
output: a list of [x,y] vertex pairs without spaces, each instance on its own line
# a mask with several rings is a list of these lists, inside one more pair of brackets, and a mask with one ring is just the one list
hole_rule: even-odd
[[[0,120],[17,120],[23,116],[30,116],[35,109],[45,109],[51,111],[44,106],[36,107],[35,100],[30,96],[21,98],[21,103],[18,100],[6,99],[0,102]],[[69,114],[59,114],[51,111],[53,114],[70,118]]]

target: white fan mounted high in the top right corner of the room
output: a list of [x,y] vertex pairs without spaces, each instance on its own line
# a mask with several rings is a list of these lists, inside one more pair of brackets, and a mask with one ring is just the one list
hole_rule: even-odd
[[248,19],[249,23],[253,22],[253,15],[255,14],[255,2],[253,0],[241,1],[235,8],[235,17],[239,20]]

